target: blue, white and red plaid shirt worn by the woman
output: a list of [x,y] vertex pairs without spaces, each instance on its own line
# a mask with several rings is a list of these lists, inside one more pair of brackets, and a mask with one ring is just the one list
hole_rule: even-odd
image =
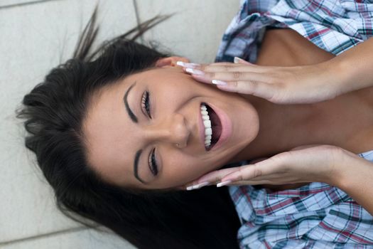
[[[222,38],[216,62],[255,63],[266,26],[292,28],[339,55],[373,34],[373,1],[247,0]],[[373,162],[373,151],[359,154]],[[240,164],[249,164],[242,161]],[[231,165],[232,166],[232,165]],[[229,186],[242,223],[240,248],[373,248],[373,217],[344,191],[314,182],[267,192]],[[372,196],[373,197],[373,196]]]

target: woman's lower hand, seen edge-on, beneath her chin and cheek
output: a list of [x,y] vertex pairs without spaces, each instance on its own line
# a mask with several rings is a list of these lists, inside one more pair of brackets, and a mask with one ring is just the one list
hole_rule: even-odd
[[[325,182],[335,185],[341,169],[338,165],[343,161],[345,152],[347,151],[340,147],[326,144],[296,147],[269,159],[255,160],[254,164],[211,171],[185,184],[185,187],[187,190],[199,189],[201,186],[217,184],[217,182],[221,182],[217,186],[305,182]],[[351,153],[347,152],[347,154]]]

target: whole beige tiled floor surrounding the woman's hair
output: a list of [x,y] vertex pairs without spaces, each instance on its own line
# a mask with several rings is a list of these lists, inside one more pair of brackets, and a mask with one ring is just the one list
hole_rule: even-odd
[[[0,248],[134,248],[116,235],[74,223],[55,208],[52,190],[23,147],[14,110],[48,70],[70,58],[97,1],[0,0]],[[239,0],[105,0],[99,41],[156,14],[176,13],[144,35],[145,43],[194,62],[215,58]]]

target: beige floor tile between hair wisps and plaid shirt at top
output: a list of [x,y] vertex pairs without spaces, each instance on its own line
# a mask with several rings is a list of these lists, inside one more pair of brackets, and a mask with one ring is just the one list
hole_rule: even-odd
[[137,0],[140,21],[156,14],[175,15],[145,34],[176,55],[212,63],[222,35],[239,11],[239,0]]

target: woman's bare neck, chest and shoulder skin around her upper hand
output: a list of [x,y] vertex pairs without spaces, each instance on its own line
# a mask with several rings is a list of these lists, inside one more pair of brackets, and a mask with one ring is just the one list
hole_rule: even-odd
[[[294,47],[296,45],[296,47]],[[295,31],[266,31],[257,65],[312,65],[335,55],[313,46]],[[259,133],[230,161],[272,157],[306,144],[330,144],[355,154],[373,149],[373,89],[349,92],[306,105],[276,105],[244,95],[259,115]],[[366,102],[364,102],[366,101]]]

